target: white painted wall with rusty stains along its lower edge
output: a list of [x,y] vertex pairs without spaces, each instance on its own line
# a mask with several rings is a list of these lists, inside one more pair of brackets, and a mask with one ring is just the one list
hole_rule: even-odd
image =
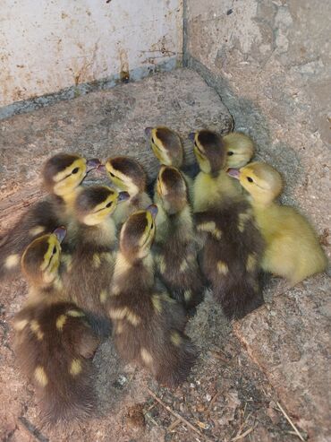
[[182,0],[0,0],[0,107],[181,52]]

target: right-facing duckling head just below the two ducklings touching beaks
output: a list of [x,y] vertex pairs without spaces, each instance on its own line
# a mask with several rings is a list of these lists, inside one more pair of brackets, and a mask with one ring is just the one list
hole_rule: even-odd
[[77,196],[74,210],[81,223],[95,226],[105,221],[119,202],[128,198],[127,192],[117,192],[108,186],[89,186]]

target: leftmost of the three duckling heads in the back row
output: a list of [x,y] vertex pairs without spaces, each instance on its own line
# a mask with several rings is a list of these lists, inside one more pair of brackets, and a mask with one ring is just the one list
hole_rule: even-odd
[[146,127],[145,134],[157,160],[165,166],[182,167],[183,149],[178,134],[168,127]]

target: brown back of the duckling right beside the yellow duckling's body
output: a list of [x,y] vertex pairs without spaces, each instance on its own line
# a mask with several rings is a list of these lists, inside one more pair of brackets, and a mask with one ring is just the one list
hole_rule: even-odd
[[240,318],[263,303],[259,263],[264,242],[250,204],[224,201],[222,208],[197,212],[197,230],[204,237],[202,272],[225,316]]

